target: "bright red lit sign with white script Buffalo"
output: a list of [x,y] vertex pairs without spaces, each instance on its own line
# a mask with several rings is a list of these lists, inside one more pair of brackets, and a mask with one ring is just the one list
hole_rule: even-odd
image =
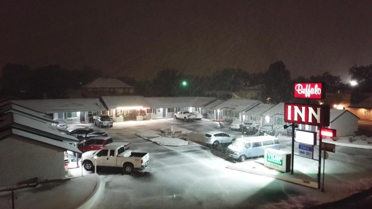
[[295,98],[323,99],[322,83],[295,83]]

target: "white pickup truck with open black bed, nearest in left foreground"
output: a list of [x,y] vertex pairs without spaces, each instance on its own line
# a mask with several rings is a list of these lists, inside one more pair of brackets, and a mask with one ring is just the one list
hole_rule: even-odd
[[81,158],[87,171],[93,170],[94,166],[108,166],[120,167],[124,173],[131,173],[134,169],[142,170],[147,167],[150,155],[145,152],[132,152],[131,149],[125,150],[124,144],[113,142],[98,151],[84,152]]

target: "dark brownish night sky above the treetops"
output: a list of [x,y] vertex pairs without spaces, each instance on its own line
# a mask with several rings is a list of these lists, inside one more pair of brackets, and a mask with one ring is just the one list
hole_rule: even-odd
[[372,1],[9,1],[0,66],[90,66],[111,77],[156,71],[266,71],[348,78],[372,63]]

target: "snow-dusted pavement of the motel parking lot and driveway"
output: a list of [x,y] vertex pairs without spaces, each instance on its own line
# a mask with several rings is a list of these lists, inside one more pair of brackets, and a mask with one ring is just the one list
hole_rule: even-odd
[[[176,125],[197,133],[219,129],[218,122],[182,122],[157,119],[114,123],[106,128],[114,141],[128,141],[131,149],[150,153],[143,171],[121,175],[118,170],[99,169],[105,189],[93,205],[99,208],[301,208],[336,201],[372,186],[372,151],[336,147],[325,161],[325,193],[270,177],[231,170],[223,148],[199,144],[166,147],[134,132]],[[93,127],[93,126],[92,126]],[[95,127],[96,130],[101,130]],[[221,129],[220,129],[221,130]],[[222,129],[231,134],[238,132]],[[279,137],[280,147],[291,149],[291,138]],[[295,145],[298,153],[298,144]],[[318,153],[315,149],[314,158]],[[225,160],[226,159],[226,160]],[[323,162],[322,162],[323,163]],[[317,178],[318,161],[295,156],[295,169]],[[323,167],[323,166],[322,166]],[[84,170],[84,174],[91,173]],[[323,172],[322,172],[323,173]]]

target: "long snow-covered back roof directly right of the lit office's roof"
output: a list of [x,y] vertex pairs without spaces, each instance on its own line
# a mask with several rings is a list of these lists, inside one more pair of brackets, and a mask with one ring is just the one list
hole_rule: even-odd
[[145,97],[151,108],[203,107],[215,99],[213,97]]

